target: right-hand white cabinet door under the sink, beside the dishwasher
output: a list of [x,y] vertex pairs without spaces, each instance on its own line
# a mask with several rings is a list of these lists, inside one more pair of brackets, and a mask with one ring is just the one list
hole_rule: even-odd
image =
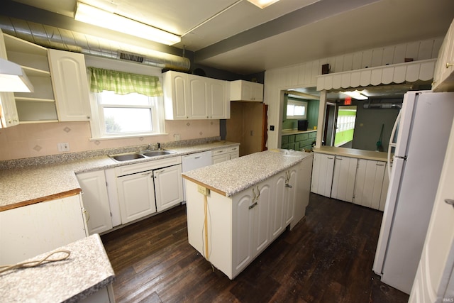
[[183,201],[182,165],[173,165],[153,172],[156,210],[163,211]]

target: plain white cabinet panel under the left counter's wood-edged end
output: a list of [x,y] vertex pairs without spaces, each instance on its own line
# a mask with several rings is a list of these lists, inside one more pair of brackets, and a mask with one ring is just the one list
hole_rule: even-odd
[[86,236],[79,194],[0,211],[0,265],[16,264]]

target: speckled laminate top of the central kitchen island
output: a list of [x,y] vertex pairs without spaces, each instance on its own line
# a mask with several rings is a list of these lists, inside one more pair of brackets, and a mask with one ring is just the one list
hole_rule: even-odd
[[267,150],[184,172],[183,177],[231,197],[248,187],[297,165],[310,153],[290,150]]

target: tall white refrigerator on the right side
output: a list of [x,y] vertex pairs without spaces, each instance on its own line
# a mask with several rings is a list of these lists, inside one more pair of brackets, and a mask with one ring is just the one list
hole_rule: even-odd
[[409,294],[454,119],[454,92],[407,92],[399,116],[373,271]]

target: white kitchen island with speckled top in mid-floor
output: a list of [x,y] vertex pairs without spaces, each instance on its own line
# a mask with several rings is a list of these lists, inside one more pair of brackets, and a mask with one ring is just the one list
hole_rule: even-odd
[[312,156],[270,150],[185,172],[189,243],[235,278],[304,216]]

